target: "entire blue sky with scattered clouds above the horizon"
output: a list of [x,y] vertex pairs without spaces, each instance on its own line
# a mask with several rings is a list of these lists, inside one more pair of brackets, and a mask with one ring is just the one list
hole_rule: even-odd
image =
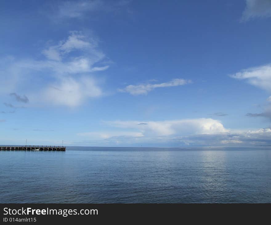
[[271,0],[3,0],[0,27],[1,145],[271,145]]

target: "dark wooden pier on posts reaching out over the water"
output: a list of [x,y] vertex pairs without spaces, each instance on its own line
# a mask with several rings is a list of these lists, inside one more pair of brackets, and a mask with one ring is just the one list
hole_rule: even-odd
[[0,146],[1,151],[66,151],[64,146],[55,145],[25,145],[25,146]]

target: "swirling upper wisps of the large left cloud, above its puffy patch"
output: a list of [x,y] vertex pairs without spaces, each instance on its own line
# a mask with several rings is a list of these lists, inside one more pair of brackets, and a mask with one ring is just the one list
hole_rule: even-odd
[[[34,69],[50,68],[57,73],[94,72],[106,70],[109,67],[108,65],[94,66],[95,63],[101,62],[105,58],[105,54],[98,49],[97,40],[78,31],[70,32],[66,40],[49,46],[42,53],[48,60],[23,62],[22,66]],[[74,53],[74,55],[70,53]]]

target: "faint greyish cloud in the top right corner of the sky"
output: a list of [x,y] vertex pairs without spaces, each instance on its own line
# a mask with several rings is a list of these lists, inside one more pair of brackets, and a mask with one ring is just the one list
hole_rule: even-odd
[[246,7],[242,15],[242,21],[247,21],[257,17],[271,17],[270,0],[246,0]]

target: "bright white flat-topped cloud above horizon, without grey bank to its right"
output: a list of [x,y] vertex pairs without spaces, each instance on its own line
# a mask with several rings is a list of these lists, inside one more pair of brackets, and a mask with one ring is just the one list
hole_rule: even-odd
[[[213,119],[187,119],[171,121],[104,121],[111,131],[78,133],[85,141],[99,141],[112,145],[135,143],[171,143],[176,137],[225,133],[220,121]],[[114,129],[114,131],[112,131]],[[91,142],[91,143],[94,143]],[[188,144],[188,142],[186,142]]]

